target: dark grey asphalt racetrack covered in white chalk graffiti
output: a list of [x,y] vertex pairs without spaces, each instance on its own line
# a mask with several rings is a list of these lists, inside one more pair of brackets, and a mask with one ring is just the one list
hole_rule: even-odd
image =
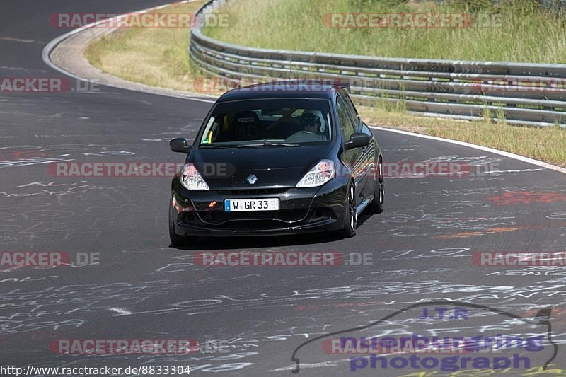
[[[0,77],[62,77],[41,59],[43,47],[68,31],[47,22],[53,13],[126,12],[159,4],[165,1],[3,1]],[[294,352],[316,337],[369,324],[374,326],[348,334],[516,334],[519,326],[526,337],[546,335],[545,324],[552,323],[553,342],[531,352],[531,368],[550,359],[549,369],[564,368],[564,267],[473,263],[474,253],[564,250],[566,181],[557,171],[375,130],[386,163],[451,162],[470,173],[386,179],[385,211],[362,215],[354,238],[224,238],[180,250],[170,246],[167,233],[170,178],[69,178],[49,168],[57,161],[180,163],[183,156],[171,152],[168,141],[194,137],[210,105],[106,86],[81,93],[0,93],[0,251],[67,253],[74,262],[52,268],[3,262],[0,366],[174,365],[203,375],[289,376],[296,356],[299,376],[401,376],[416,371],[362,367],[362,359],[325,352],[323,339]],[[345,255],[346,262],[206,267],[193,260],[201,251],[330,251]],[[85,255],[93,263],[76,263]],[[371,258],[358,263],[364,255]],[[423,320],[418,307],[378,322],[432,301],[478,307],[467,307],[466,318]],[[428,310],[454,313],[451,306],[466,307],[431,303]],[[529,322],[541,308],[552,309],[550,318]],[[59,340],[211,345],[189,354],[65,354]]]

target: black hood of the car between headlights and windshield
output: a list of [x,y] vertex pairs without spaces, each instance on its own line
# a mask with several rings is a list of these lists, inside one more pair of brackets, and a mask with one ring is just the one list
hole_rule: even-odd
[[[193,149],[187,162],[195,163],[211,190],[294,187],[325,158],[330,143],[316,146],[265,146],[241,149]],[[255,184],[247,178],[255,175]]]

